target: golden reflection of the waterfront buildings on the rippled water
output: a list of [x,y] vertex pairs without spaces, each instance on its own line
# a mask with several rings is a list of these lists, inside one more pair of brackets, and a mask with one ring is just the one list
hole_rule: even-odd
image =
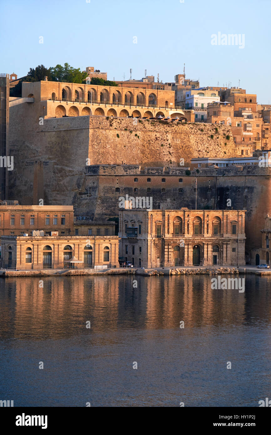
[[[133,288],[133,280],[137,288]],[[86,331],[244,325],[271,320],[271,278],[248,275],[244,293],[212,290],[205,275],[0,280],[1,338],[67,338]]]

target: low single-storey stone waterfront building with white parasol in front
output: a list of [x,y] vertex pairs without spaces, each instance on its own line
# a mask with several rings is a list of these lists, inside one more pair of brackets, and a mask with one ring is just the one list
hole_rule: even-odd
[[79,268],[118,267],[118,237],[2,236],[2,267],[17,270],[62,269],[76,257]]

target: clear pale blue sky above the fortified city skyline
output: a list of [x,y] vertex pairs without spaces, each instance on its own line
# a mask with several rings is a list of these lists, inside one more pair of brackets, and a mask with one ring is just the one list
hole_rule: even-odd
[[[231,86],[271,103],[270,0],[0,0],[0,73],[93,66],[109,80],[148,75]],[[243,49],[211,45],[212,34],[244,34]],[[43,37],[43,44],[39,37]],[[133,43],[134,36],[137,43]]]

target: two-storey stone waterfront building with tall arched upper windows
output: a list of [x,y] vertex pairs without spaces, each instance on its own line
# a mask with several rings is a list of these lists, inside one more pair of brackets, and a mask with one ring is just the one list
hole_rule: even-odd
[[119,255],[137,267],[243,266],[244,210],[123,210]]

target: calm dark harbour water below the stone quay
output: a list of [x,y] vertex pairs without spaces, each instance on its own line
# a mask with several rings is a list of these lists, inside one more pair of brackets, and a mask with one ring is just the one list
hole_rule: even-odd
[[258,406],[271,398],[271,278],[247,275],[244,293],[211,290],[205,275],[137,276],[138,288],[134,278],[43,277],[43,288],[40,278],[0,278],[0,399]]

